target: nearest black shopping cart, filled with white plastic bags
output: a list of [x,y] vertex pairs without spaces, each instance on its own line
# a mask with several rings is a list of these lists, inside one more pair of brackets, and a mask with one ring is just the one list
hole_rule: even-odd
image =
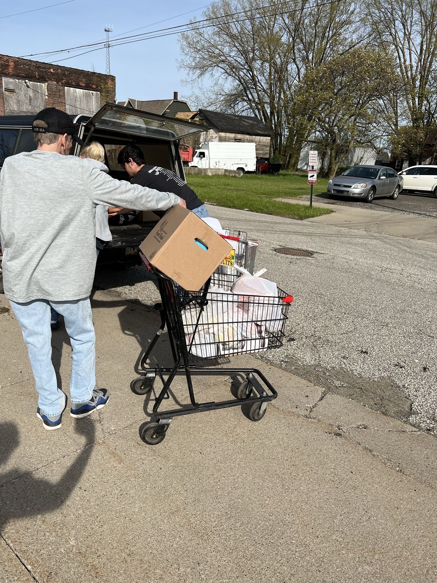
[[[147,261],[144,257],[143,261]],[[284,325],[292,297],[279,290],[279,297],[237,296],[216,291],[212,286],[230,286],[238,276],[213,274],[198,292],[182,290],[170,278],[149,266],[156,274],[161,304],[161,325],[146,353],[140,368],[144,375],[132,381],[132,391],[146,395],[151,391],[158,376],[163,384],[153,406],[153,418],[143,424],[141,438],[149,445],[163,441],[173,417],[200,413],[215,409],[247,404],[249,418],[259,421],[265,415],[267,403],[276,399],[277,392],[265,376],[255,368],[211,368],[193,364],[199,360],[220,359],[233,354],[260,352],[281,346]],[[220,311],[220,323],[214,322]],[[263,320],[264,319],[264,320]],[[211,321],[212,320],[212,321]],[[174,366],[161,367],[147,363],[158,338],[167,326],[168,338]],[[164,378],[164,374],[168,374]],[[191,405],[184,408],[160,410],[177,374],[185,374]],[[237,390],[237,399],[219,402],[198,403],[193,389],[192,377],[196,375],[238,375],[242,378]]]

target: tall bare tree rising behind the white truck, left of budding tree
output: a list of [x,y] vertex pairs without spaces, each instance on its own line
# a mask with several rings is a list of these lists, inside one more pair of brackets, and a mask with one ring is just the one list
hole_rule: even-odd
[[214,26],[192,22],[179,39],[188,82],[212,79],[209,105],[258,117],[273,131],[273,151],[294,164],[313,117],[297,101],[299,83],[308,69],[350,47],[357,3],[219,0],[203,16],[216,19]]

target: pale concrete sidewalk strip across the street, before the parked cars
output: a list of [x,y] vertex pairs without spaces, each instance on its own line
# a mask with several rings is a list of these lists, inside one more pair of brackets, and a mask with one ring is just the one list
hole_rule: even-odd
[[[308,201],[301,201],[295,198],[276,198],[274,200],[290,204],[309,205]],[[313,206],[330,209],[334,212],[330,215],[306,219],[305,222],[307,223],[332,224],[336,227],[346,227],[346,229],[357,229],[437,243],[436,219],[401,215],[400,213],[390,213],[382,210],[375,211],[351,206],[329,205],[314,201]]]

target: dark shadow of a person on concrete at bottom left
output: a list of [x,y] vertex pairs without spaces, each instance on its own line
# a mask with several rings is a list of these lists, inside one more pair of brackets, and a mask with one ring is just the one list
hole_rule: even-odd
[[[86,438],[86,444],[64,475],[54,482],[38,478],[24,468],[13,468],[2,473],[4,464],[19,445],[20,434],[14,423],[0,423],[0,532],[6,522],[48,514],[61,507],[71,496],[90,459],[96,434],[89,417],[81,419],[75,431]],[[46,466],[46,473],[50,472],[50,467],[50,464]]]

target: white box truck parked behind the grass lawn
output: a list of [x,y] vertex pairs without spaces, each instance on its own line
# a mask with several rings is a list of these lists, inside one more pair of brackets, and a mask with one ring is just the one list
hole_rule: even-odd
[[255,172],[256,152],[253,142],[204,142],[196,150],[192,168],[225,168]]

